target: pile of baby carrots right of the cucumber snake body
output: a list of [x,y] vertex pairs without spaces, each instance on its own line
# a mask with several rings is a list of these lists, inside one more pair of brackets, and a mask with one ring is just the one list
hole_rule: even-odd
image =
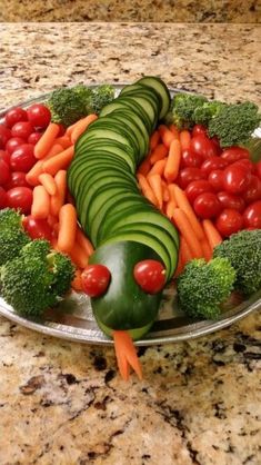
[[150,152],[140,165],[137,178],[142,194],[174,224],[180,233],[178,276],[193,258],[211,259],[222,238],[213,222],[199,220],[185,192],[175,184],[181,151],[190,147],[190,132],[173,125],[160,125],[150,139]]

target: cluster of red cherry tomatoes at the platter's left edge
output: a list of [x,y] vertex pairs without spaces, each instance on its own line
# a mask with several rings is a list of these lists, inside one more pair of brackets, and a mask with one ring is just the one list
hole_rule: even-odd
[[33,147],[50,120],[50,110],[42,103],[7,112],[0,125],[0,209],[12,207],[24,215],[30,212],[32,188],[26,175],[37,161]]

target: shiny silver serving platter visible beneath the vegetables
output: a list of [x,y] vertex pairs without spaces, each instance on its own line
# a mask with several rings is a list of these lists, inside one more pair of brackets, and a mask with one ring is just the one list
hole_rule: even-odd
[[[117,85],[116,91],[119,92],[122,86]],[[171,89],[172,95],[179,91]],[[49,93],[42,95],[36,99],[17,103],[16,106],[26,108],[32,103],[44,101],[48,97]],[[4,112],[0,113],[0,121]],[[261,308],[261,289],[247,300],[242,300],[238,295],[233,295],[223,308],[220,318],[214,321],[194,321],[180,310],[175,288],[174,286],[169,286],[163,293],[158,320],[154,321],[150,333],[144,338],[137,340],[135,345],[149,346],[193,339],[230,326],[259,308]],[[44,317],[41,319],[19,316],[0,297],[0,315],[19,325],[49,336],[87,344],[113,344],[97,326],[90,299],[81,293],[72,291],[54,309],[47,310]]]

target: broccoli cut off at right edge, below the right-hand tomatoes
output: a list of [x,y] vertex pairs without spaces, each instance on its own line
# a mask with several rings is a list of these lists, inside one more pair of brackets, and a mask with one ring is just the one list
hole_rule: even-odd
[[214,249],[225,257],[237,274],[235,289],[249,296],[261,288],[261,229],[233,234]]

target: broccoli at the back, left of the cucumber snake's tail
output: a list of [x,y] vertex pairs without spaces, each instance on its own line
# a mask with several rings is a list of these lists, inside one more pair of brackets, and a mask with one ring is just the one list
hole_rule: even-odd
[[51,110],[52,121],[68,127],[87,115],[93,112],[99,115],[101,108],[113,98],[112,86],[104,85],[91,89],[79,85],[54,90],[47,105]]

